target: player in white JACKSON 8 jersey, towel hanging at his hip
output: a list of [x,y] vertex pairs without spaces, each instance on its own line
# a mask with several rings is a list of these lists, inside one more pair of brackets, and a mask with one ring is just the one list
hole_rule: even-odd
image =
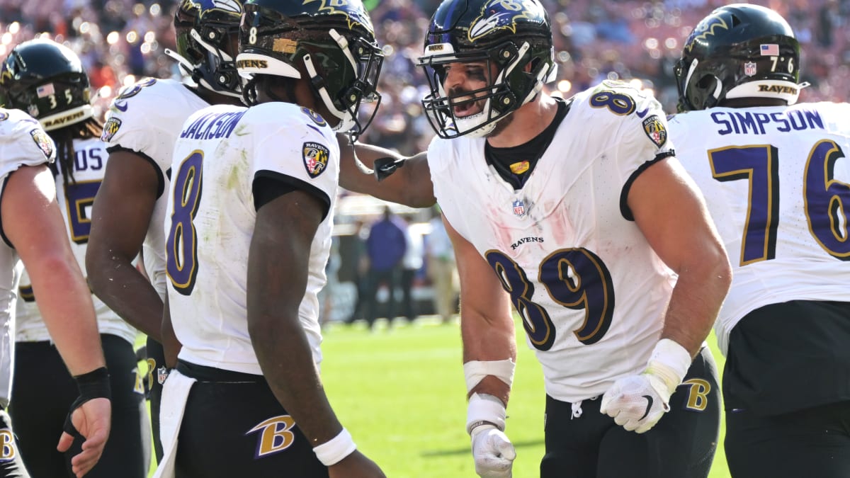
[[382,477],[322,388],[317,299],[333,131],[356,136],[371,119],[358,111],[379,98],[381,49],[360,0],[251,0],[239,43],[250,106],[196,112],[174,147],[166,319],[182,349],[156,476]]

